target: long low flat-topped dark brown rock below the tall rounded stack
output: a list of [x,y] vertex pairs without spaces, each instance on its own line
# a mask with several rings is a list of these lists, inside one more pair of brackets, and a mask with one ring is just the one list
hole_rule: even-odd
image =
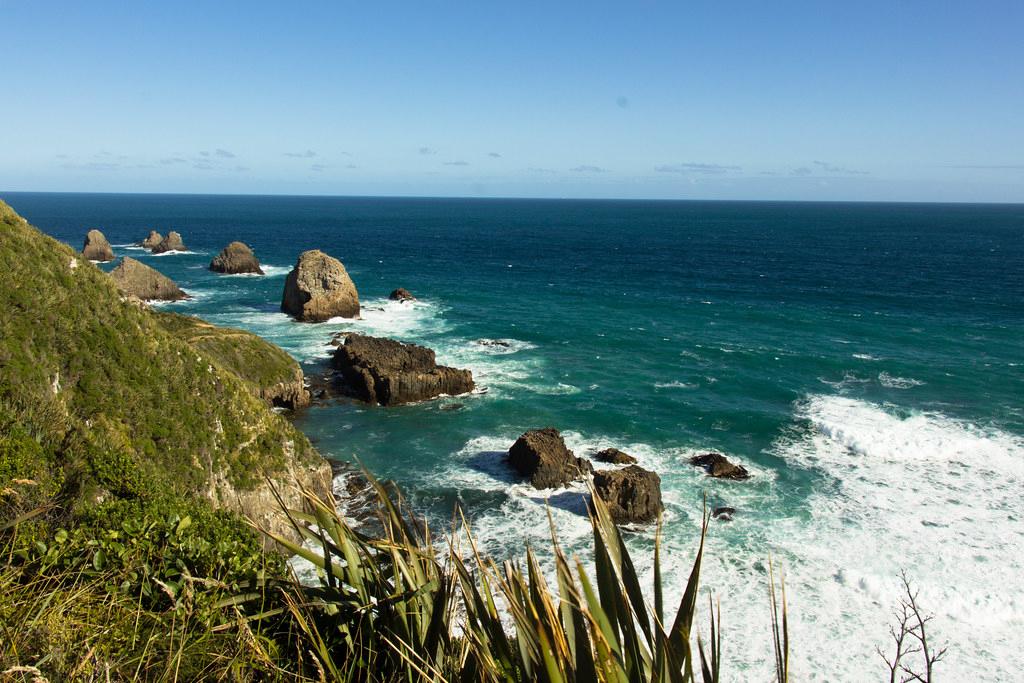
[[365,401],[396,405],[473,389],[473,374],[438,366],[434,352],[393,339],[348,335],[334,351],[334,367]]

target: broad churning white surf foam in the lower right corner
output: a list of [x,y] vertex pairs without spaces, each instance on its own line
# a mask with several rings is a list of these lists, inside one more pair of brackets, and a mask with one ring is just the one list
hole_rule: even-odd
[[[1024,440],[842,396],[812,397],[799,415],[810,429],[780,441],[779,453],[824,481],[808,501],[809,518],[773,522],[763,548],[790,558],[798,676],[881,677],[873,648],[889,645],[904,568],[936,614],[934,642],[951,645],[939,670],[946,680],[1010,680],[1024,670],[1016,641],[1024,626]],[[736,604],[732,590],[724,604]],[[745,618],[742,607],[732,616]]]

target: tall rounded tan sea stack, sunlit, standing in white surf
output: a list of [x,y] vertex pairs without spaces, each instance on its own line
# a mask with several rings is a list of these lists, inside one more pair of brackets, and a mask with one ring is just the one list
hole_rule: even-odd
[[281,309],[306,323],[358,317],[359,294],[341,261],[314,249],[302,252],[288,273]]

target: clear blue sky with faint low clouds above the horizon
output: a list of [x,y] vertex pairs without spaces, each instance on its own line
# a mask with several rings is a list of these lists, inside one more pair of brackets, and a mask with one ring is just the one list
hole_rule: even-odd
[[0,0],[0,190],[1024,202],[1024,2]]

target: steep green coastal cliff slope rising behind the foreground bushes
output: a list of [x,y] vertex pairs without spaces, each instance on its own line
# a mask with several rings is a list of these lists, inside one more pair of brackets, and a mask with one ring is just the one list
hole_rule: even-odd
[[268,404],[305,395],[287,353],[133,303],[2,202],[0,310],[0,408],[37,435],[67,509],[193,497],[287,531],[271,483],[291,507],[301,486],[329,494],[329,465]]

